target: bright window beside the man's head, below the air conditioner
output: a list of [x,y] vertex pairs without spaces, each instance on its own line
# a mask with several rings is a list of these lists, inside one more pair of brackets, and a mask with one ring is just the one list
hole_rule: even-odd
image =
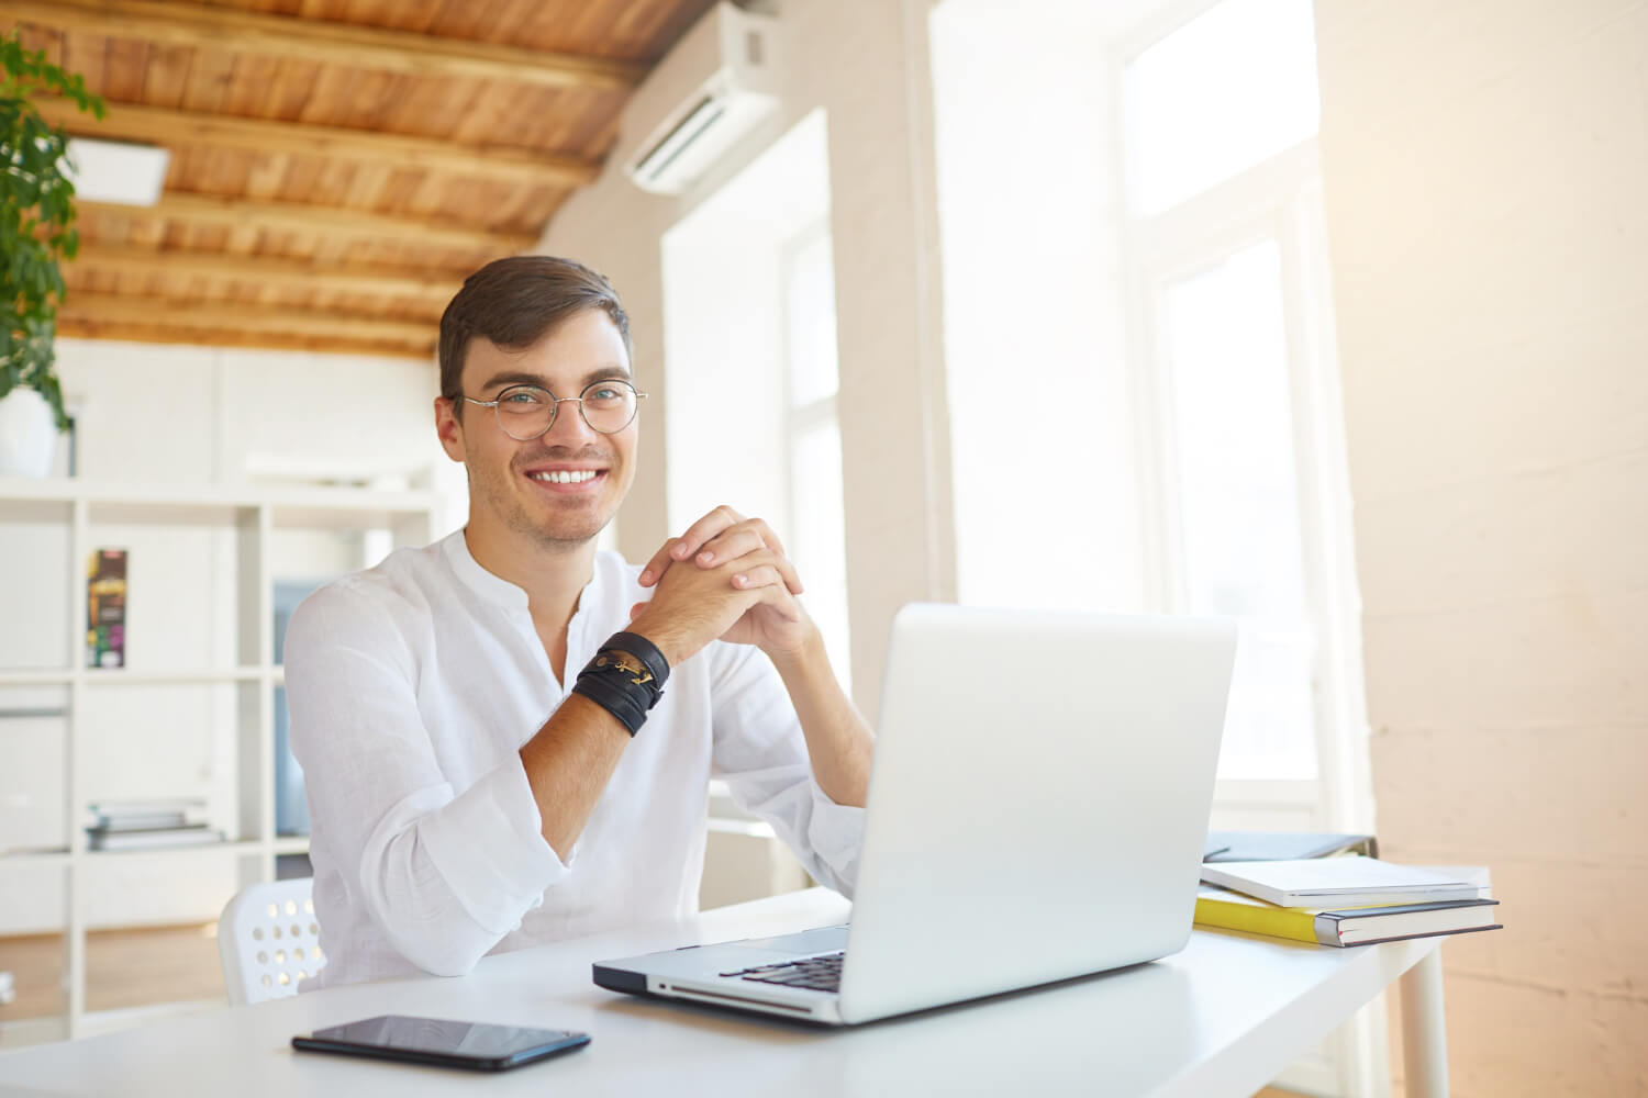
[[[784,540],[849,685],[829,153],[812,112],[664,235],[669,527],[717,504]],[[738,430],[723,425],[737,423]]]

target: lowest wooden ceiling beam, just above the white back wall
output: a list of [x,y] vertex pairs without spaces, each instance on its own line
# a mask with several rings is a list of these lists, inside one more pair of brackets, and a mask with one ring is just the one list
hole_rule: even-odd
[[[310,309],[277,309],[226,301],[193,303],[171,298],[129,298],[110,293],[69,293],[58,308],[59,326],[137,326],[178,331],[265,333],[298,339],[348,339],[405,344],[433,351],[433,323],[384,321]],[[183,342],[180,339],[180,342]]]

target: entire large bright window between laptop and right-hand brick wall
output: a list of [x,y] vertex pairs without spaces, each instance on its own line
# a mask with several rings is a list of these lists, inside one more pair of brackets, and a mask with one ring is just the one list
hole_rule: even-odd
[[[1373,825],[1309,0],[1221,0],[1119,74],[1152,603],[1239,624],[1216,828]],[[1363,1012],[1279,1085],[1381,1093]]]

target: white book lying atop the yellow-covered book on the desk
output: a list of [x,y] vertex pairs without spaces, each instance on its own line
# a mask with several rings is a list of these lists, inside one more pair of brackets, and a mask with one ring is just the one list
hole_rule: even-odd
[[1470,881],[1363,854],[1203,863],[1201,879],[1277,907],[1341,909],[1482,899],[1480,887]]

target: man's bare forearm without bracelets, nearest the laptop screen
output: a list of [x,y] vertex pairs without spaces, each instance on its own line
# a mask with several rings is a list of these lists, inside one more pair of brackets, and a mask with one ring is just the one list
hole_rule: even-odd
[[801,719],[819,789],[837,805],[862,808],[870,790],[875,736],[836,680],[824,639],[814,629],[798,652],[771,658]]

